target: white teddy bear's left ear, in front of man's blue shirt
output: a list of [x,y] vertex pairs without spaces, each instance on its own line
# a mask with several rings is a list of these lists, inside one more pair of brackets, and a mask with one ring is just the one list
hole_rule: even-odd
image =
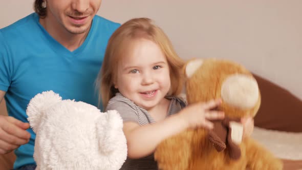
[[28,115],[27,120],[35,133],[44,111],[61,100],[62,98],[53,91],[39,93],[30,100],[26,109],[26,114]]

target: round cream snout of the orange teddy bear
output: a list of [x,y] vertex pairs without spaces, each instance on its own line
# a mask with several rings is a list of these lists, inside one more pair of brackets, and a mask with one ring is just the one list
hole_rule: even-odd
[[223,102],[240,109],[250,109],[257,103],[259,90],[257,81],[244,74],[233,74],[225,79],[221,87]]

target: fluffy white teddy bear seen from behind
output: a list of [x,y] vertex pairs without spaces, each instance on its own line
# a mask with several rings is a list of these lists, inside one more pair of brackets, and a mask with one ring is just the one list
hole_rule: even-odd
[[27,115],[36,133],[36,169],[115,170],[126,159],[123,122],[115,110],[101,113],[48,91],[31,99]]

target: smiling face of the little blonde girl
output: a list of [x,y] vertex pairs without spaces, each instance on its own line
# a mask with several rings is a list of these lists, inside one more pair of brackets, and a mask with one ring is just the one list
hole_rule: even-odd
[[115,88],[146,110],[160,103],[170,89],[169,66],[151,40],[134,39],[118,62]]

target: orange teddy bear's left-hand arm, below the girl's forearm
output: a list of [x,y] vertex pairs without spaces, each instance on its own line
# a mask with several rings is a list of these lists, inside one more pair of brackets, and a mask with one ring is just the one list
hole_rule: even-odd
[[192,148],[185,134],[186,132],[183,132],[170,137],[157,146],[154,157],[158,162],[159,169],[187,169]]

